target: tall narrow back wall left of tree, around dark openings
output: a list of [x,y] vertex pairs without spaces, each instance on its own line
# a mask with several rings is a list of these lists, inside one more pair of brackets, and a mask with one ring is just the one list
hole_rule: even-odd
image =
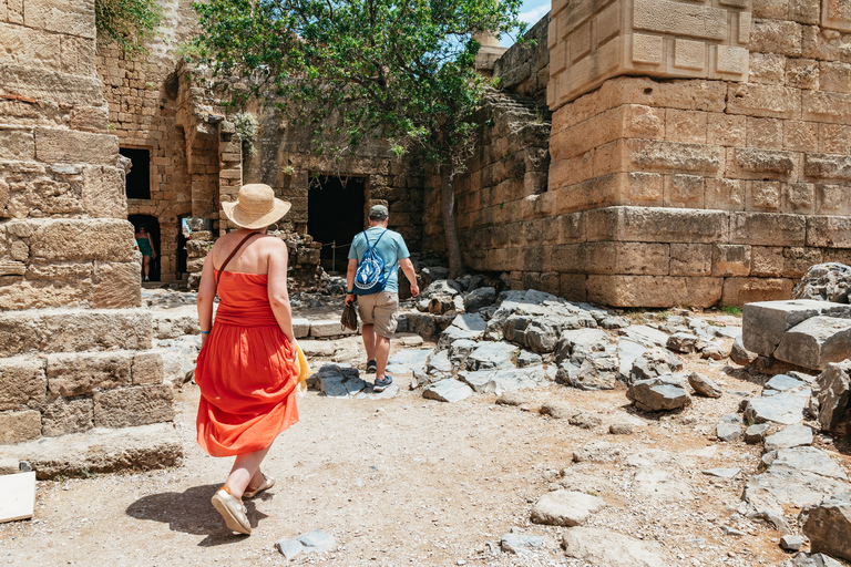
[[[98,74],[109,103],[110,132],[121,147],[146,150],[151,156],[151,198],[130,199],[129,215],[151,215],[160,221],[161,279],[174,280],[177,271],[180,217],[193,214],[186,134],[177,124],[180,75],[176,50],[196,30],[197,18],[188,0],[165,0],[161,37],[147,44],[150,55],[129,58],[116,47],[99,45]],[[201,167],[217,174],[216,150]],[[195,167],[194,169],[197,169]],[[215,186],[215,182],[211,182]],[[206,217],[207,215],[199,215]],[[148,227],[150,229],[150,227]]]

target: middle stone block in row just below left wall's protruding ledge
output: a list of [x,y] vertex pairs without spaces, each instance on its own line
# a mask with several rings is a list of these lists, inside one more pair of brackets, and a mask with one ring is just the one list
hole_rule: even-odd
[[71,398],[131,383],[132,351],[73,352],[48,357],[48,389]]

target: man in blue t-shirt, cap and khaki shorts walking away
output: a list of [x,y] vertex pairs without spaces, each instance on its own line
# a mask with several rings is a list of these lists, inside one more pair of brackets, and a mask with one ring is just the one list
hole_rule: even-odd
[[[411,296],[420,295],[417,275],[413,271],[413,264],[411,264],[411,255],[408,252],[402,235],[388,230],[387,217],[388,210],[383,205],[376,205],[369,209],[369,228],[352,240],[349,249],[349,269],[346,274],[346,303],[351,303],[355,301],[355,274],[369,247],[375,247],[385,261],[385,275],[387,276],[385,289],[377,293],[358,297],[358,313],[360,320],[363,321],[361,334],[363,336],[363,347],[367,349],[367,372],[376,373],[376,383],[372,386],[376,392],[381,392],[393,383],[393,379],[387,375],[385,370],[387,369],[387,359],[390,357],[390,337],[396,332],[397,311],[399,310],[397,262],[411,284]],[[369,244],[367,244],[367,239],[369,239]]]

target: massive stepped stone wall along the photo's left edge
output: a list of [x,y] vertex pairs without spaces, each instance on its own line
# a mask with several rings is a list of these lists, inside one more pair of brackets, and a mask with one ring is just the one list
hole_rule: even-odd
[[0,2],[0,443],[173,416],[94,0]]

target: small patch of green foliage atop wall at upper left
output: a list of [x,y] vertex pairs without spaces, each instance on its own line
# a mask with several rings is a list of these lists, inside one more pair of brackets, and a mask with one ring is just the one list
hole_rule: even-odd
[[157,0],[95,0],[94,17],[99,41],[129,55],[144,54],[145,42],[157,34],[163,7]]

